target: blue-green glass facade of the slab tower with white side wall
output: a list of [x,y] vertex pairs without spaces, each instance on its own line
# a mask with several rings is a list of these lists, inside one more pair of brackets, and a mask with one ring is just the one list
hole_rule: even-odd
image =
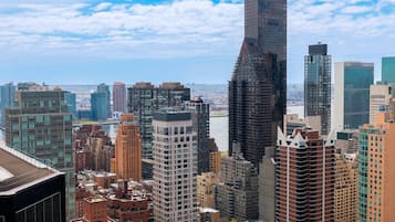
[[355,129],[370,120],[370,87],[373,65],[344,66],[344,128]]

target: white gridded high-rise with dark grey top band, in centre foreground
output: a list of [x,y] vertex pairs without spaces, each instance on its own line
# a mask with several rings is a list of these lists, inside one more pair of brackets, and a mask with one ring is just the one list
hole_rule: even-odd
[[154,114],[153,156],[155,221],[197,222],[197,138],[190,113]]

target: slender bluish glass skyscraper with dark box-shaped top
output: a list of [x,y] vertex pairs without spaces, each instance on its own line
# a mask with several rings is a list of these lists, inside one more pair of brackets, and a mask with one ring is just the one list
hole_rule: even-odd
[[331,131],[331,55],[326,44],[309,45],[304,56],[304,117],[321,116],[322,135]]

